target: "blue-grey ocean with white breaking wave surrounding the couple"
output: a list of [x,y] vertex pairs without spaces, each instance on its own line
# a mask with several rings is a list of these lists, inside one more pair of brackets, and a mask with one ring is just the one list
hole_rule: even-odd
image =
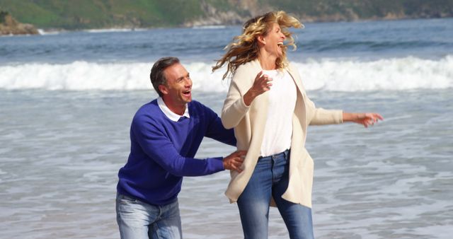
[[[0,238],[119,238],[117,170],[149,71],[179,57],[193,98],[220,112],[214,60],[240,26],[0,37]],[[306,23],[288,58],[318,107],[384,121],[309,128],[316,238],[451,238],[453,18]],[[235,148],[205,139],[198,158]],[[184,238],[241,238],[229,173],[185,177]],[[288,238],[277,209],[270,238]]]

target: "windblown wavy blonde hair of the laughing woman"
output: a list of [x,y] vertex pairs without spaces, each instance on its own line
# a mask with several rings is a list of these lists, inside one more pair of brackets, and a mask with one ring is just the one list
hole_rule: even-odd
[[227,64],[228,68],[222,77],[222,79],[225,79],[230,74],[234,74],[241,64],[257,59],[259,52],[257,38],[260,35],[268,35],[269,31],[272,30],[273,23],[280,25],[282,33],[287,40],[287,45],[282,46],[282,57],[279,57],[275,61],[275,64],[277,69],[282,69],[287,66],[287,47],[292,46],[293,50],[297,49],[296,45],[294,45],[292,33],[290,33],[287,28],[304,28],[304,25],[293,16],[289,16],[285,11],[271,11],[244,23],[242,34],[234,37],[233,42],[224,48],[226,54],[224,54],[221,59],[217,60],[215,66],[212,66],[212,72],[222,68],[224,64]]

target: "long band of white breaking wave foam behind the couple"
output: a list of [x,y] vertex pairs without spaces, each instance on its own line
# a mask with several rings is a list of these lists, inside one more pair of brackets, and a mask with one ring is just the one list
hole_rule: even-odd
[[[0,66],[0,88],[46,90],[150,89],[152,63],[70,64],[30,63]],[[212,64],[183,62],[193,79],[194,91],[226,92],[225,69],[211,73]],[[453,55],[441,59],[416,57],[379,59],[309,59],[294,62],[308,91],[406,91],[453,87]]]

